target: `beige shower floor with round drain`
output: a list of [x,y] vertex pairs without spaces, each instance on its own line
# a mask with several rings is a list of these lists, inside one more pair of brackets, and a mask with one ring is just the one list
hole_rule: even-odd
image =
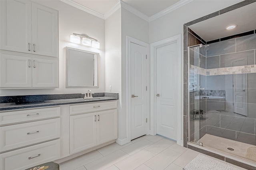
[[[242,143],[234,140],[229,140],[226,138],[221,138],[221,137],[210,135],[210,134],[205,134],[200,139],[200,143],[202,143],[203,147],[205,148],[211,148],[216,151],[232,154],[233,156],[249,159],[253,163],[256,163],[255,156],[250,156],[250,157],[248,156],[250,155],[248,154],[248,152],[251,152],[252,148],[256,148],[255,145],[250,145],[250,144],[246,144],[246,143]],[[228,150],[228,148],[233,148],[234,150]]]

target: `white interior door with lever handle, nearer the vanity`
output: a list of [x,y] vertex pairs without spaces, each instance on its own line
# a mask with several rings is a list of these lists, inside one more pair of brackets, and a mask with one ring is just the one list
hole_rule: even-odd
[[146,47],[130,43],[131,140],[147,133]]

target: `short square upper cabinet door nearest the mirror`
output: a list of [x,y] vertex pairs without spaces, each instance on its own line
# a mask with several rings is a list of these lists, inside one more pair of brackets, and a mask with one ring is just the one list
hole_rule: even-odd
[[32,58],[32,87],[58,87],[58,61]]

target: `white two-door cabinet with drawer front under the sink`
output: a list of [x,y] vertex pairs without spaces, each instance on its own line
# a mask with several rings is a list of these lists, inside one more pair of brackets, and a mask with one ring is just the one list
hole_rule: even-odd
[[[89,104],[96,112],[87,113],[86,104],[70,106],[70,154],[92,148],[117,138],[116,101]],[[94,106],[93,106],[94,105]],[[111,110],[104,110],[113,105]],[[81,114],[72,115],[80,110]],[[101,111],[102,110],[102,111]]]

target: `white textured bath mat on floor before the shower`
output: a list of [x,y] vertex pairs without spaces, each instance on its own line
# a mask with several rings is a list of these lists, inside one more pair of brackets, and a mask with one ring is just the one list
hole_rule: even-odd
[[183,170],[239,170],[218,160],[198,155]]

